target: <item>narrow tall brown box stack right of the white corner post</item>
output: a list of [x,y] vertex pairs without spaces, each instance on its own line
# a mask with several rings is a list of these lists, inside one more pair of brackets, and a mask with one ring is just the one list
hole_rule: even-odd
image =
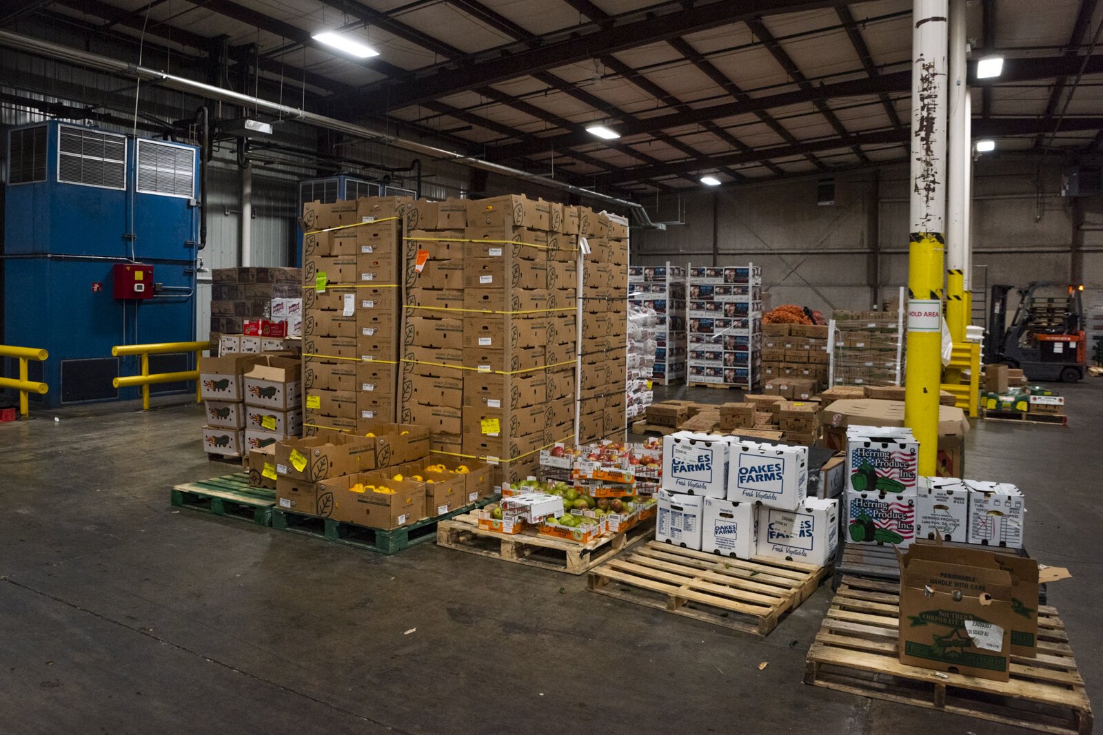
[[[578,442],[623,436],[628,354],[628,221],[578,207],[582,258]],[[586,242],[582,244],[585,238]]]

